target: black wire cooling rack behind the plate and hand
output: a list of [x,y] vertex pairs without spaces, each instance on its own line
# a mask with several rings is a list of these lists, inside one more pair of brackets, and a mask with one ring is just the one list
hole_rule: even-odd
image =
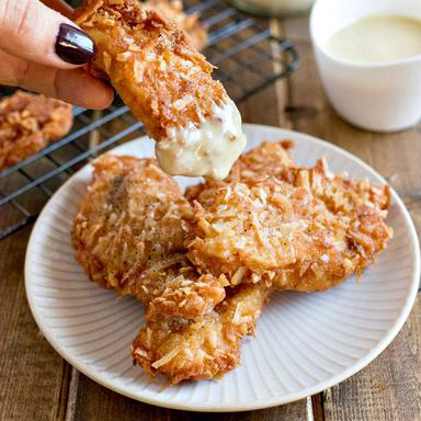
[[[204,54],[237,103],[297,68],[294,46],[273,37],[264,21],[219,0],[187,0],[184,5],[187,13],[201,13],[209,34]],[[34,221],[54,192],[90,158],[145,134],[120,99],[105,111],[75,107],[73,114],[67,137],[0,173],[0,240]]]

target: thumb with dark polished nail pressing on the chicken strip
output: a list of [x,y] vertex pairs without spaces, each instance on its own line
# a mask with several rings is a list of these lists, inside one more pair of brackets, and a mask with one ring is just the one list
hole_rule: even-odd
[[88,62],[92,39],[75,23],[39,0],[0,0],[0,48],[61,69]]

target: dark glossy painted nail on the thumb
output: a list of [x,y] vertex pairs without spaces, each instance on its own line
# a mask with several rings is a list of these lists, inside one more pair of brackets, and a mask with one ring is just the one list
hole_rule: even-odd
[[72,65],[88,62],[94,53],[93,41],[78,27],[61,23],[56,39],[56,54]]

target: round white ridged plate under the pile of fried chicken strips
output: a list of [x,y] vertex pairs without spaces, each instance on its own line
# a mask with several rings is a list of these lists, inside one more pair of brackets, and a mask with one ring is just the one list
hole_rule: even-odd
[[[364,162],[322,140],[275,127],[246,125],[249,147],[292,139],[298,164],[328,159],[332,171],[385,180]],[[140,139],[115,153],[151,156]],[[49,343],[70,364],[123,395],[162,407],[241,411],[286,403],[323,390],[356,373],[395,338],[407,319],[420,277],[419,244],[401,200],[392,192],[387,223],[395,237],[357,282],[325,293],[277,293],[258,321],[257,338],[242,344],[242,365],[221,380],[163,388],[132,365],[130,343],[144,318],[130,297],[88,281],[75,262],[70,229],[90,181],[87,166],[65,183],[42,212],[26,253],[25,282],[32,312]],[[182,185],[197,180],[179,179]]]

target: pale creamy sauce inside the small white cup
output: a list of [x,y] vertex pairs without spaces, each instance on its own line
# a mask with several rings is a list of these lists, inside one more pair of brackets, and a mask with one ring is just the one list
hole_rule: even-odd
[[421,20],[373,14],[337,32],[327,43],[334,57],[355,62],[390,61],[421,54]]

